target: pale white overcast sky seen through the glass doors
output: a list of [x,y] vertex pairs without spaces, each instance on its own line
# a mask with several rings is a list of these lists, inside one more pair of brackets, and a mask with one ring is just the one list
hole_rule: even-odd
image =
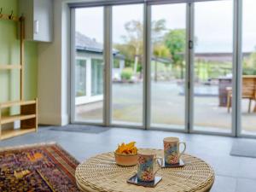
[[[256,46],[256,1],[243,1],[242,50],[253,51]],[[185,29],[186,4],[152,6],[152,20],[166,20],[167,29]],[[143,22],[143,5],[113,6],[113,43],[122,43],[125,23]],[[103,8],[76,10],[76,31],[103,42]],[[195,3],[195,52],[231,52],[233,47],[233,1]]]

